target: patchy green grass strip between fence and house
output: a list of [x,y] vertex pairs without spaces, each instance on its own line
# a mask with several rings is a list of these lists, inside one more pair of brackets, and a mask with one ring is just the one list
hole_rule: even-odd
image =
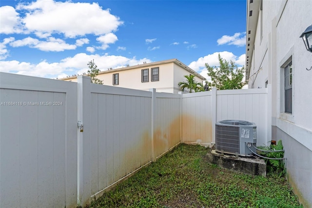
[[285,179],[209,165],[203,160],[208,151],[181,144],[89,208],[302,208]]

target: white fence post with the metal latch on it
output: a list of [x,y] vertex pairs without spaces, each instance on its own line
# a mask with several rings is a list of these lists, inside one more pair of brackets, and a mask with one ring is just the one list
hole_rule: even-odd
[[[78,76],[78,205],[84,207],[91,197],[91,78]],[[82,132],[81,130],[82,129]]]

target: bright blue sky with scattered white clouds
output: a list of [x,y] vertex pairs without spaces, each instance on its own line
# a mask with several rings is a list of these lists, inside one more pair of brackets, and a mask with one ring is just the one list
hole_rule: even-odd
[[178,59],[245,63],[245,0],[1,0],[0,71],[62,78]]

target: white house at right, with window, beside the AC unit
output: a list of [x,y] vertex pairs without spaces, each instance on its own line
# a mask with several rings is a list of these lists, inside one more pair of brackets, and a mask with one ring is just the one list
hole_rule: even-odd
[[282,140],[288,179],[312,207],[312,53],[301,34],[312,24],[312,0],[247,0],[246,77],[268,87],[272,140]]

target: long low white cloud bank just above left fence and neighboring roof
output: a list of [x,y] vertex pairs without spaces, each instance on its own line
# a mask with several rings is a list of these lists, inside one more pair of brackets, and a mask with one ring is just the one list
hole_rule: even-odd
[[87,63],[93,59],[102,71],[107,70],[107,68],[123,67],[127,64],[137,65],[138,63],[151,62],[151,60],[146,58],[137,60],[136,57],[126,58],[123,56],[109,56],[107,54],[101,56],[98,54],[87,55],[85,53],[79,53],[60,62],[53,63],[46,62],[45,60],[37,64],[18,61],[0,61],[0,71],[46,78],[63,78],[73,74],[87,72]]

